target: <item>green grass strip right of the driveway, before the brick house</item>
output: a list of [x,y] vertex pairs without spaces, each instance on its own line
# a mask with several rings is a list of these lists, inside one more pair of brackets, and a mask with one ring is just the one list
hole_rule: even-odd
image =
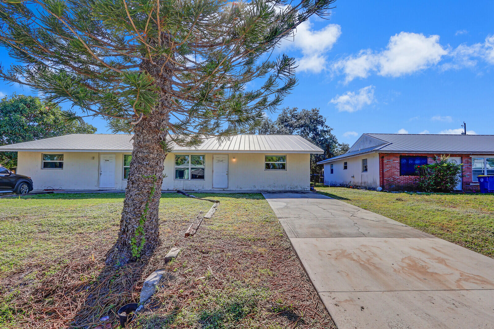
[[494,257],[493,194],[383,193],[322,185],[316,190]]

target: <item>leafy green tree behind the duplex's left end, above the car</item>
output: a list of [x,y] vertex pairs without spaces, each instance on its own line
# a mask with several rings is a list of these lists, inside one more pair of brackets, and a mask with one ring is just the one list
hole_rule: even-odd
[[[80,122],[66,122],[62,109],[39,97],[12,95],[0,100],[0,145],[75,133],[91,134],[96,127]],[[17,152],[0,152],[0,164],[17,166]]]

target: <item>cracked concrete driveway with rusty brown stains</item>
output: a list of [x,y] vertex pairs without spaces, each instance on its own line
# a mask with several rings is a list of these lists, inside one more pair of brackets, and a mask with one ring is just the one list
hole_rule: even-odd
[[312,193],[263,193],[339,329],[494,328],[494,259]]

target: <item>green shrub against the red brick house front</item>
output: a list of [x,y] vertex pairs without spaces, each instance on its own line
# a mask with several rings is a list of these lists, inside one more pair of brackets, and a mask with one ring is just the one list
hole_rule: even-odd
[[419,181],[418,188],[424,192],[451,192],[464,175],[463,164],[449,162],[449,156],[434,157],[434,164],[416,165]]

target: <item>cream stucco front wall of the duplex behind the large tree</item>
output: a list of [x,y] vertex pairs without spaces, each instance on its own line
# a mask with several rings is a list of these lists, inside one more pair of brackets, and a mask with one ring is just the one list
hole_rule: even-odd
[[[51,186],[64,190],[94,190],[99,188],[100,154],[109,152],[44,152],[64,155],[63,169],[41,169],[42,152],[18,152],[17,172],[33,178],[34,189]],[[124,153],[115,154],[115,189],[124,189]],[[128,153],[125,153],[128,154]],[[163,190],[201,191],[212,188],[212,153],[177,153],[206,155],[204,180],[175,180],[175,154],[165,160]],[[228,188],[224,190],[309,190],[310,155],[299,153],[218,153],[228,154]],[[264,155],[286,155],[287,170],[264,170]],[[92,159],[94,157],[94,159]],[[235,157],[235,160],[233,159]],[[219,189],[222,190],[222,189]]]

